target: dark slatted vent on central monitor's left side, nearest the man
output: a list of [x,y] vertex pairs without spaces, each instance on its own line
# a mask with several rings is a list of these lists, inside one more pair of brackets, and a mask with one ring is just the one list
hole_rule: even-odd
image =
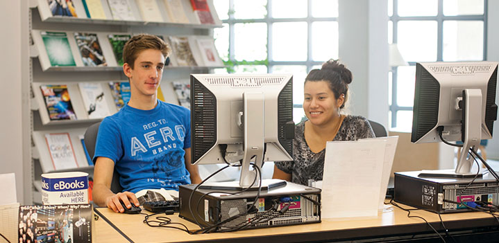
[[[192,76],[191,76],[192,78]],[[217,98],[196,78],[192,78],[191,133],[192,163],[203,156],[217,141]]]

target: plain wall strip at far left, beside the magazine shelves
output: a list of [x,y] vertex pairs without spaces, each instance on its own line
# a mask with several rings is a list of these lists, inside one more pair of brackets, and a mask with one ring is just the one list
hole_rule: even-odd
[[[28,46],[27,1],[0,1],[0,174],[15,172],[17,201],[24,203],[24,146],[22,78],[26,77],[26,60],[22,48]],[[27,55],[26,55],[27,57]],[[24,64],[24,66],[23,66]],[[26,109],[25,109],[26,110]],[[27,131],[29,132],[29,131]],[[28,137],[29,138],[29,137]],[[28,164],[29,165],[29,164]],[[31,168],[31,167],[30,167]],[[31,191],[31,190],[30,190]]]

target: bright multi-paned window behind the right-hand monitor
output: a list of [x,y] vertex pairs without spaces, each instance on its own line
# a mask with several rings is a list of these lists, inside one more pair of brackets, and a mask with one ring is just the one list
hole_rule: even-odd
[[389,0],[388,39],[409,66],[389,72],[389,123],[410,132],[416,62],[486,59],[487,0]]

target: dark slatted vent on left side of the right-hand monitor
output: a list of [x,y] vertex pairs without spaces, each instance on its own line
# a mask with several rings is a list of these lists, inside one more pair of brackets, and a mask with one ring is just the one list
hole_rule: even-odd
[[413,143],[437,125],[439,99],[439,82],[421,64],[416,64],[416,89],[414,93],[414,118],[412,120],[411,137]]

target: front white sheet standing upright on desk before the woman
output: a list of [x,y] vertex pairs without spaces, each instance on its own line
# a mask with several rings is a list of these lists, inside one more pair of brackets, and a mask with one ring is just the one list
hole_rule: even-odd
[[378,217],[386,143],[382,139],[326,143],[323,218]]

